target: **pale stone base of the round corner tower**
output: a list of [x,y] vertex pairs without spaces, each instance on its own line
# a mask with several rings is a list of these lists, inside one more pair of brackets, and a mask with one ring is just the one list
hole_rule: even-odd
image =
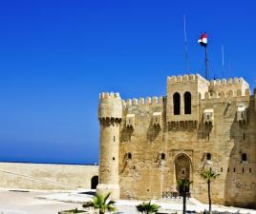
[[97,194],[110,194],[110,199],[117,200],[120,198],[120,187],[119,185],[105,185],[105,184],[98,184],[96,186],[96,193]]

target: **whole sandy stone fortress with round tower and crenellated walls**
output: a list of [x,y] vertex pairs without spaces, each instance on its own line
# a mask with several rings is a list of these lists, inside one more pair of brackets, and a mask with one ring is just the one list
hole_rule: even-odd
[[100,93],[98,192],[117,199],[160,199],[193,181],[207,202],[203,168],[215,204],[256,206],[256,90],[243,78],[207,81],[199,74],[167,77],[166,95],[123,101]]

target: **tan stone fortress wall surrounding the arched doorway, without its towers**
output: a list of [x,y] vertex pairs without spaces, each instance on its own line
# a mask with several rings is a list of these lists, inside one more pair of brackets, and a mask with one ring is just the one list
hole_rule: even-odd
[[[176,83],[173,81],[174,78],[169,79],[170,84]],[[203,93],[199,100],[198,128],[181,126],[182,123],[170,128],[166,117],[168,105],[156,102],[156,98],[155,103],[152,98],[123,102],[119,147],[121,198],[160,198],[162,191],[175,189],[174,163],[179,154],[185,153],[193,166],[192,196],[206,203],[207,185],[201,172],[205,166],[203,155],[210,152],[212,162],[208,166],[221,174],[212,184],[213,202],[253,207],[256,196],[255,94],[250,95],[249,88],[245,88],[244,93],[242,90],[234,88]],[[248,107],[249,112],[248,125],[242,129],[236,120],[236,111],[241,104]],[[214,126],[208,133],[203,125],[203,110],[211,108],[214,109]],[[162,113],[159,129],[152,127],[154,112]],[[127,114],[135,115],[134,128],[125,126]],[[126,159],[128,152],[132,154],[131,160]],[[160,160],[161,152],[166,155],[165,161]],[[248,156],[246,163],[241,163],[241,152]]]

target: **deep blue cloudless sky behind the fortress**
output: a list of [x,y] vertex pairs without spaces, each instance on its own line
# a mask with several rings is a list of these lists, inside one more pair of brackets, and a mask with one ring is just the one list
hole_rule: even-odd
[[[203,74],[255,86],[256,1],[2,1],[0,161],[94,163],[100,91],[123,99],[165,94],[167,75]],[[230,60],[230,68],[229,68]]]

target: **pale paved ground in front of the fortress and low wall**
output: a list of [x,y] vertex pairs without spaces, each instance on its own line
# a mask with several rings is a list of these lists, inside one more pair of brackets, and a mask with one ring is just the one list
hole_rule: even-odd
[[[78,191],[9,191],[0,190],[0,214],[57,214],[59,210],[80,208],[83,202],[92,199],[94,192],[91,190]],[[161,209],[178,211],[181,213],[181,199],[167,199],[152,201],[160,204]],[[136,200],[117,201],[117,214],[138,214],[136,205],[141,202]],[[195,199],[190,199],[187,209],[202,211],[207,209],[207,204],[201,204]],[[233,213],[256,214],[256,210],[213,205],[214,210],[229,211]]]

